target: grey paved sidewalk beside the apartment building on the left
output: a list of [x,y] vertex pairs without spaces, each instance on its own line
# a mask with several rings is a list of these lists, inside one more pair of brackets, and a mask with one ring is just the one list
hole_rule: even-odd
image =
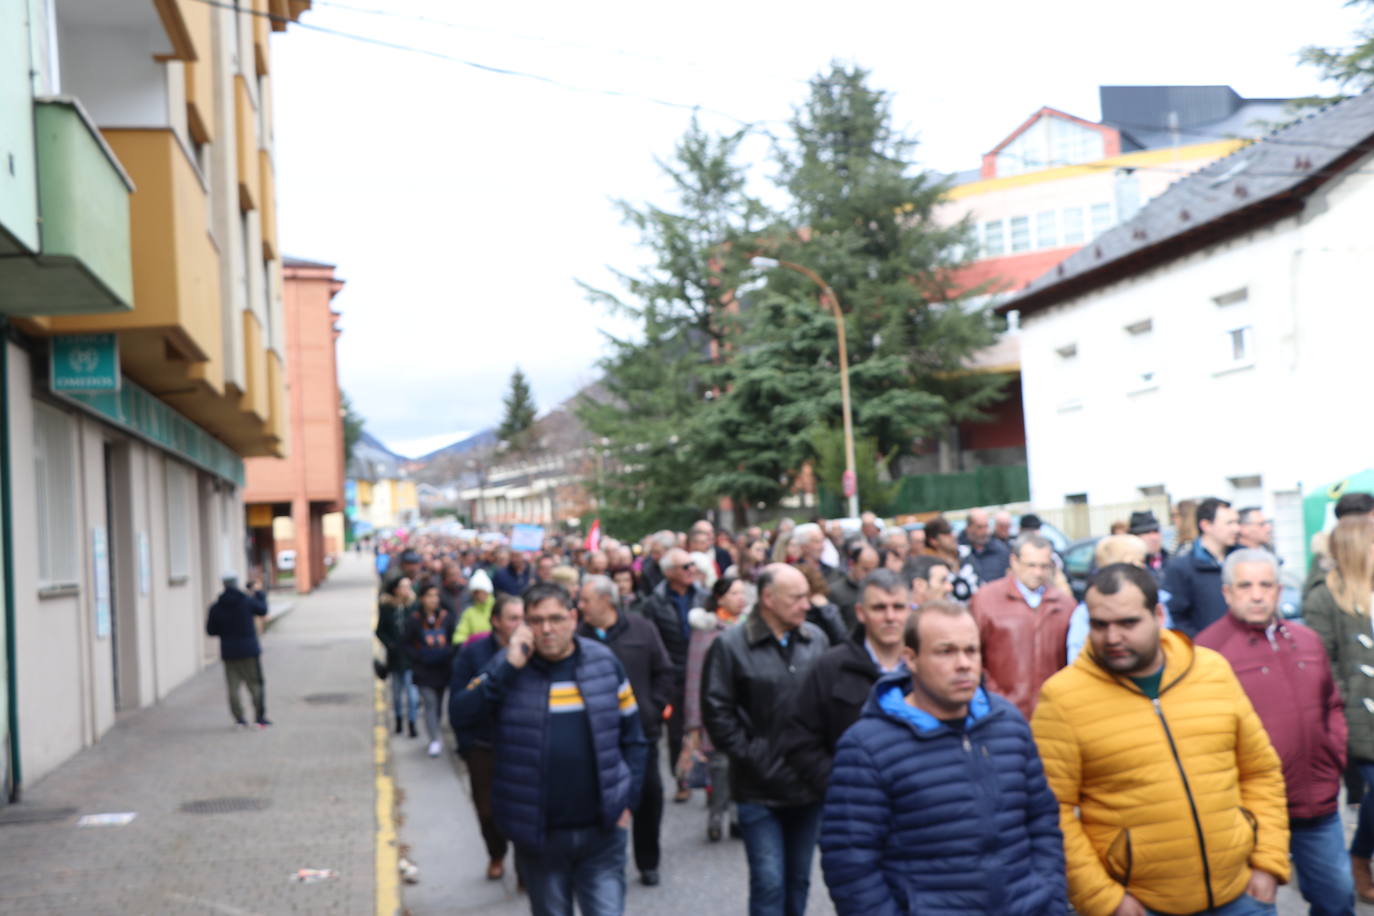
[[[0,808],[0,912],[374,913],[375,582],[345,556],[264,639],[272,728],[231,726],[216,663]],[[181,810],[214,799],[254,809]],[[44,809],[71,810],[14,823]],[[137,817],[76,824],[107,812]],[[294,883],[298,868],[338,878]]]

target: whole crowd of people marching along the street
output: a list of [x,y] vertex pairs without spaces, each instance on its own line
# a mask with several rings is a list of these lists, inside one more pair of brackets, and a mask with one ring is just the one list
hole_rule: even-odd
[[1257,512],[1195,503],[1172,556],[1136,512],[1081,600],[1035,516],[978,509],[959,534],[418,534],[376,548],[393,725],[438,757],[447,713],[486,878],[514,846],[537,915],[624,912],[629,854],[657,886],[665,799],[697,790],[756,915],[805,912],[818,849],[840,913],[1248,916],[1293,879],[1351,915],[1374,902],[1374,497],[1336,505],[1305,625]]

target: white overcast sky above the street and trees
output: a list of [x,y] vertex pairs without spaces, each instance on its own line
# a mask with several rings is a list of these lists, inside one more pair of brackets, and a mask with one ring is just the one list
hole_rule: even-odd
[[[628,330],[574,280],[609,286],[607,266],[647,258],[613,199],[671,202],[655,158],[671,155],[691,111],[642,96],[780,132],[808,77],[833,59],[857,63],[921,137],[921,166],[966,169],[1040,106],[1096,119],[1102,84],[1316,92],[1296,51],[1348,44],[1359,18],[1338,0],[1294,11],[1260,15],[1241,0],[315,0],[304,23],[433,54],[298,26],[273,34],[282,247],[338,265],[341,383],[371,433],[420,455],[497,423],[515,365],[540,411],[555,407],[595,378],[599,330]],[[750,158],[765,181],[767,144]]]

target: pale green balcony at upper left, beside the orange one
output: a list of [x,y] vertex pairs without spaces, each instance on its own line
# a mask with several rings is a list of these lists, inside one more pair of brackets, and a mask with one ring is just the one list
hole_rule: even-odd
[[0,312],[128,312],[133,304],[133,183],[74,99],[34,102],[38,254],[0,258]]

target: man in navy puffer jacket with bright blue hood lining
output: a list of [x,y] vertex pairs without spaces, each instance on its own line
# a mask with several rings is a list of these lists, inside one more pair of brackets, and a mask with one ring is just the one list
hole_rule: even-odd
[[907,622],[908,673],[874,684],[840,739],[820,865],[841,916],[1061,916],[1059,805],[1030,728],[980,687],[978,625],[929,602]]

